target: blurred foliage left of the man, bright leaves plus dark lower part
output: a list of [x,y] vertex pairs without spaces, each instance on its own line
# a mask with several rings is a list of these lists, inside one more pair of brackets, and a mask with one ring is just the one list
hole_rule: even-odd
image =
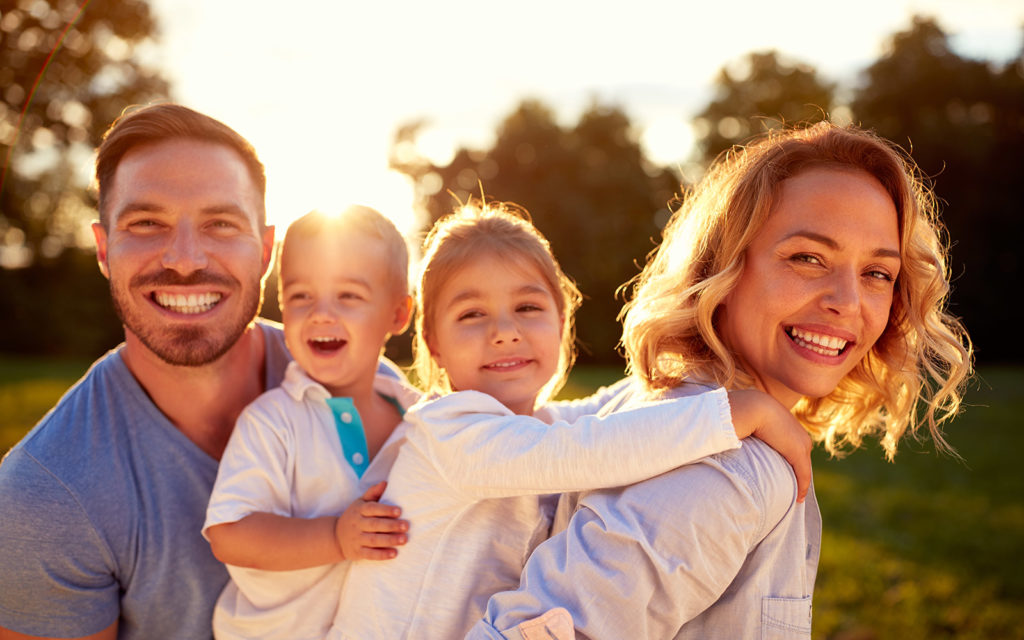
[[89,165],[126,106],[166,98],[139,59],[156,34],[142,0],[0,4],[0,350],[96,355],[120,341],[88,232]]

